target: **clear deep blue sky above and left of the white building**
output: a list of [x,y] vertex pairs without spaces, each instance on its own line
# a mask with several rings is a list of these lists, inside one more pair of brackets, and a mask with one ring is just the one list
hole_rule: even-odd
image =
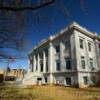
[[[63,2],[63,8],[59,5],[59,1]],[[28,12],[25,31],[28,33],[27,38],[30,40],[30,45],[28,46],[26,54],[40,40],[59,32],[72,21],[76,21],[88,30],[99,34],[100,0],[83,1],[83,8],[83,5],[80,6],[80,0],[58,0],[53,5],[34,11],[33,14]],[[63,13],[64,11],[67,14]],[[6,68],[6,66],[7,63],[0,63],[0,68]],[[27,59],[11,63],[10,67],[27,69]]]

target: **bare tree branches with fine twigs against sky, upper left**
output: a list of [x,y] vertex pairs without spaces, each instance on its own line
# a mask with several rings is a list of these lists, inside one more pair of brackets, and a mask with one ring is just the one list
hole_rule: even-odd
[[[0,0],[0,59],[24,58],[11,51],[23,51],[26,46],[25,21],[28,10],[34,11],[46,7],[54,0],[32,3],[32,0]],[[6,50],[5,50],[6,49]],[[9,53],[7,52],[9,51]]]

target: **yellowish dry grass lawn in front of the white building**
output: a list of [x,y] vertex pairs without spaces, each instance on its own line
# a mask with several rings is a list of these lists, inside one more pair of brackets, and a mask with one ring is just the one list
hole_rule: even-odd
[[100,88],[33,86],[0,88],[0,100],[100,100]]

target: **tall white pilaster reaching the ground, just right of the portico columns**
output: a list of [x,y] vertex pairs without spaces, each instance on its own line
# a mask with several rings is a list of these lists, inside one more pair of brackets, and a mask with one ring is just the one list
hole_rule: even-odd
[[50,69],[50,84],[53,84],[53,45],[50,43],[49,47],[49,69]]

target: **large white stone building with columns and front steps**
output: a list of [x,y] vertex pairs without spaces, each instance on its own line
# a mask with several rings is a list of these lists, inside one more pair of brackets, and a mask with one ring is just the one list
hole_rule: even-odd
[[29,53],[26,84],[89,86],[100,69],[100,36],[73,22]]

